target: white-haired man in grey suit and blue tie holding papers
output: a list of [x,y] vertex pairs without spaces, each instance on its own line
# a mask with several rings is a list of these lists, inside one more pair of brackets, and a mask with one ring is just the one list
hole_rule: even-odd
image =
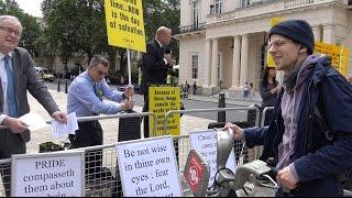
[[[59,111],[36,75],[31,55],[18,47],[21,35],[19,19],[0,15],[0,124],[8,127],[0,130],[0,160],[26,152],[25,143],[30,141],[31,133],[18,118],[30,112],[28,90],[55,120],[67,122],[66,113]],[[10,196],[11,169],[9,166],[0,169],[6,194]]]

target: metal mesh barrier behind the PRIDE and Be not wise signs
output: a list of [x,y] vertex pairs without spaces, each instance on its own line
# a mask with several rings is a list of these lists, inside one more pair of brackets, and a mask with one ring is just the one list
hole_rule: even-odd
[[[179,167],[179,176],[183,184],[183,189],[185,194],[188,191],[186,182],[183,180],[182,173],[184,165],[187,161],[187,155],[190,150],[189,136],[174,136],[175,141],[180,142],[180,147],[175,147],[179,152],[177,161],[183,164]],[[176,145],[177,146],[177,145]],[[86,197],[122,197],[122,185],[119,176],[119,168],[117,162],[116,144],[97,145],[89,147],[79,147],[69,151],[84,151],[86,161],[85,165],[85,194]],[[11,168],[11,160],[0,161],[1,173],[7,168]],[[11,176],[11,175],[7,175]],[[4,188],[4,186],[7,188]],[[0,183],[0,197],[6,196],[6,190],[10,195],[10,184]]]

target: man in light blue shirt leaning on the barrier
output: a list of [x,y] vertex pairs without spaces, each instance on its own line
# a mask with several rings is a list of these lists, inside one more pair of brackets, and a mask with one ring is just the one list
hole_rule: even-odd
[[[76,112],[77,117],[91,117],[100,113],[116,114],[120,111],[133,109],[132,101],[108,103],[102,100],[102,97],[106,97],[112,101],[121,102],[133,96],[132,88],[127,88],[124,92],[112,90],[105,79],[108,70],[109,61],[101,55],[94,55],[88,69],[77,76],[68,88],[68,113]],[[78,122],[78,128],[76,135],[69,135],[73,148],[102,145],[102,129],[98,120]],[[88,177],[98,177],[97,173],[101,172],[101,158],[100,150],[86,155],[86,174]]]

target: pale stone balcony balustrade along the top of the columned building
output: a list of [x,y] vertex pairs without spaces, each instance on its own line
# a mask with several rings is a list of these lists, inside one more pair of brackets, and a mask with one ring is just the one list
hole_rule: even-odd
[[262,0],[243,8],[238,8],[234,11],[223,12],[221,14],[209,14],[207,24],[333,2],[348,4],[348,0]]

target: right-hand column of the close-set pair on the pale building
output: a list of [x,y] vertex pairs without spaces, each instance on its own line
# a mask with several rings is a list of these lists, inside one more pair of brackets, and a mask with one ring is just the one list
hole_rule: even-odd
[[241,44],[241,72],[240,72],[240,87],[244,85],[248,80],[248,69],[249,69],[249,35],[242,35]]

